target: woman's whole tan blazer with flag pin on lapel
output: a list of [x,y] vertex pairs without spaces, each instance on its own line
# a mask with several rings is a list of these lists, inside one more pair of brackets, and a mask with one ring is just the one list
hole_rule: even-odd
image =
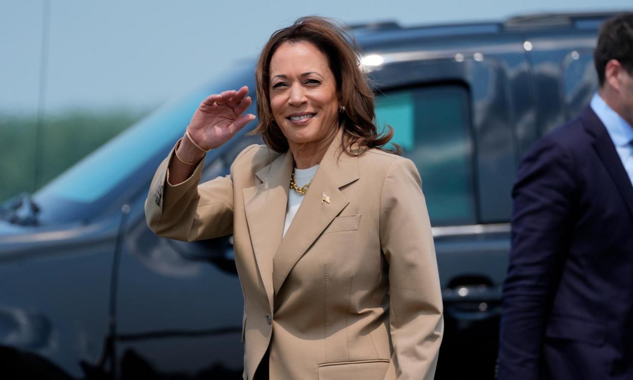
[[[370,149],[323,157],[282,239],[292,154],[244,149],[230,175],[166,182],[161,163],[145,203],[160,236],[234,234],[244,293],[244,379],[270,348],[270,379],[432,379],[442,298],[420,175]],[[324,198],[328,197],[328,201]],[[221,306],[218,306],[221,307]]]

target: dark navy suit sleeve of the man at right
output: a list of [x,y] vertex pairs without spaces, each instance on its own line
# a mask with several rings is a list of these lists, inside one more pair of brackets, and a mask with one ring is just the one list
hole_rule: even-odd
[[519,167],[503,288],[499,379],[540,378],[542,339],[573,228],[572,168],[572,155],[548,137]]

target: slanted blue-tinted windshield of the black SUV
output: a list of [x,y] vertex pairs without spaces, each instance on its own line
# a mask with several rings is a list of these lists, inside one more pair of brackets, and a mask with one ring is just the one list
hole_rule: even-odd
[[[151,179],[204,98],[244,84],[254,88],[252,82],[253,63],[239,64],[230,75],[166,103],[124,130],[35,194],[36,203],[42,205],[40,221],[68,222],[96,217],[128,191],[129,186],[144,184],[139,176],[149,175]],[[119,207],[117,204],[115,210]]]

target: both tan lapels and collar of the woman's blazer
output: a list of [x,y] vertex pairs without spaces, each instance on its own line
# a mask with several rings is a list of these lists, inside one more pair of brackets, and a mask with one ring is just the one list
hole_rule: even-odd
[[[242,190],[251,243],[271,308],[273,294],[279,293],[292,267],[349,203],[340,188],[358,179],[358,158],[339,156],[341,139],[342,129],[325,152],[283,240],[292,153],[287,151],[258,170],[255,175],[261,184]],[[322,202],[323,193],[330,203]]]

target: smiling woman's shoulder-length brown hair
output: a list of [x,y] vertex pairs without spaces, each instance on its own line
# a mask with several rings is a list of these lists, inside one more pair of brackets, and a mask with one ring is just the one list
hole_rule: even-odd
[[393,128],[387,125],[387,130],[381,134],[374,124],[373,92],[360,68],[360,49],[353,37],[333,20],[316,16],[301,17],[290,27],[277,30],[262,49],[255,72],[260,124],[251,133],[260,133],[268,148],[280,153],[288,150],[288,141],[270,108],[270,60],[284,42],[299,41],[316,46],[327,58],[334,74],[339,105],[345,107],[339,113],[339,127],[343,128],[346,153],[362,155],[369,148],[379,148],[401,154],[402,149],[397,144],[393,144],[395,151],[384,148],[394,134]]

